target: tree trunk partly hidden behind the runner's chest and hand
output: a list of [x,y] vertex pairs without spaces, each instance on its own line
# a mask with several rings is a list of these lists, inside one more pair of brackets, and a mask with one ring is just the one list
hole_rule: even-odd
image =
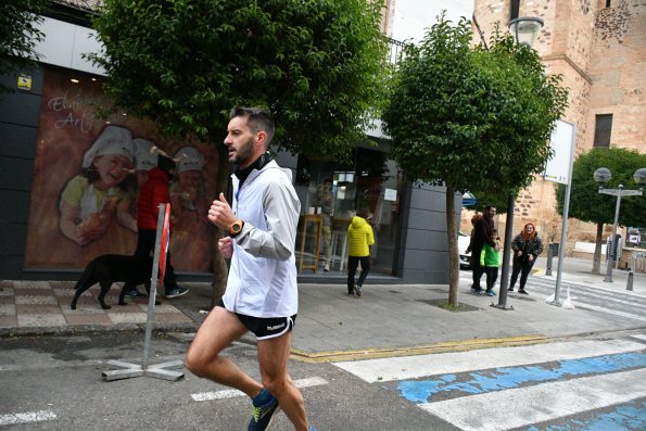
[[[217,154],[218,154],[218,167],[217,167],[217,180],[216,180],[216,190],[217,195],[214,199],[218,199],[219,193],[223,192],[227,197],[227,201],[231,203],[231,197],[228,195],[228,185],[229,185],[229,175],[231,170],[231,166],[229,165],[228,154],[225,145],[220,143],[215,143],[217,145]],[[227,287],[227,278],[229,276],[229,267],[227,266],[227,262],[219,253],[217,249],[217,242],[220,238],[224,238],[228,232],[225,232],[223,229],[218,227],[214,227],[213,229],[213,296],[211,297],[211,308],[215,306],[219,302],[219,300],[225,294],[225,289]]]

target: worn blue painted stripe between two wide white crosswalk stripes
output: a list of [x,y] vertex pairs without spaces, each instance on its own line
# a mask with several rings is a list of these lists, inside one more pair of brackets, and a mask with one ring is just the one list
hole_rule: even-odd
[[489,371],[469,372],[471,378],[457,381],[458,375],[444,375],[432,380],[405,380],[400,382],[400,394],[414,403],[428,403],[438,394],[452,391],[465,394],[481,394],[519,388],[524,383],[555,381],[568,377],[579,377],[604,372],[615,372],[631,368],[646,367],[646,354],[621,353],[581,359],[566,359],[548,368],[548,365],[494,368]]

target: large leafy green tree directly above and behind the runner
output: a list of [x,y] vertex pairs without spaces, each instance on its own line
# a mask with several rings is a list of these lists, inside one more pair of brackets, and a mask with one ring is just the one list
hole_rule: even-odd
[[[278,149],[347,156],[383,98],[381,1],[105,0],[94,27],[116,106],[168,136],[218,144],[235,104],[273,114]],[[217,230],[217,229],[216,229]],[[216,236],[221,234],[217,232]],[[214,257],[214,287],[226,266]]]

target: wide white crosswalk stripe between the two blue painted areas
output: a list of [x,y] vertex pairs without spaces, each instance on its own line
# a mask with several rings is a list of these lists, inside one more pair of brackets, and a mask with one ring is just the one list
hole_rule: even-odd
[[464,396],[419,407],[464,431],[508,430],[644,397],[645,379],[646,369],[638,369]]

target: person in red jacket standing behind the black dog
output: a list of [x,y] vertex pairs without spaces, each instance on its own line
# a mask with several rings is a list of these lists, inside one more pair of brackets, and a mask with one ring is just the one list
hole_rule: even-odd
[[[139,190],[137,202],[137,249],[135,257],[149,257],[155,250],[157,238],[157,217],[160,216],[160,204],[167,204],[170,201],[169,182],[175,173],[175,162],[164,154],[157,155],[157,167],[148,172],[148,180]],[[170,224],[173,225],[173,224]],[[173,229],[173,226],[170,226]],[[135,286],[124,286],[126,295],[144,297]],[[170,263],[170,251],[166,255],[166,272],[164,275],[164,296],[167,299],[181,296],[188,293],[188,289],[177,284],[175,268]]]

